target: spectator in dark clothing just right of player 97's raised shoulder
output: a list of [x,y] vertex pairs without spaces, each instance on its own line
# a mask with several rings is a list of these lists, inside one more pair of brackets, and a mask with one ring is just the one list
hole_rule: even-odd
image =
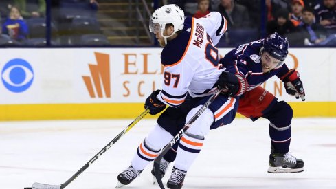
[[243,5],[235,4],[233,0],[221,0],[219,12],[228,23],[228,30],[250,27],[249,13]]

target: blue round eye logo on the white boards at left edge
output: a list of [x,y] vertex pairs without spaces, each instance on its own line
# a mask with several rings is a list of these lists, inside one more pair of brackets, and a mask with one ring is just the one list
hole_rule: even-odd
[[8,90],[21,93],[32,85],[34,71],[27,61],[16,58],[5,64],[1,72],[1,79]]

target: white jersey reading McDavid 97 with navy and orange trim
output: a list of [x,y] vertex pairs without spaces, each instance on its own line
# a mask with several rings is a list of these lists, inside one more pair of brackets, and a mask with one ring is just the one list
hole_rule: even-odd
[[157,98],[171,107],[182,104],[187,93],[208,96],[218,80],[219,52],[214,45],[227,30],[227,21],[219,12],[194,19],[186,18],[179,35],[162,50],[164,84]]

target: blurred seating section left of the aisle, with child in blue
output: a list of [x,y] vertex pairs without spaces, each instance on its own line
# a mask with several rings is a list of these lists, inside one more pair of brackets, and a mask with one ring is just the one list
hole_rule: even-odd
[[[97,38],[102,33],[96,19],[96,0],[52,0],[51,10],[54,45],[87,45],[81,41],[83,35]],[[0,45],[45,45],[45,12],[45,0],[1,0]],[[85,40],[92,42],[91,38]]]

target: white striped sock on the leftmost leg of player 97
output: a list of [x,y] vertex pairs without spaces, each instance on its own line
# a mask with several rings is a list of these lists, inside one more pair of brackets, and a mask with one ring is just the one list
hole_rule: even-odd
[[143,170],[170,140],[172,140],[172,135],[157,124],[137,148],[131,166],[135,170]]

